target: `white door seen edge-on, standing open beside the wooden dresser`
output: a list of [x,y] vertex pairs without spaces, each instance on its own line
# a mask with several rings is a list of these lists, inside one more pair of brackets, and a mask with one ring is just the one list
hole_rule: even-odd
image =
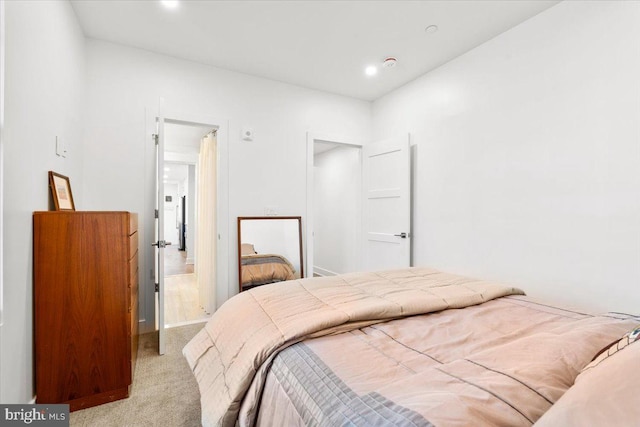
[[156,327],[158,328],[158,353],[165,353],[164,331],[164,248],[171,242],[164,240],[164,117],[157,119],[156,140],[156,239],[154,249],[156,273]]

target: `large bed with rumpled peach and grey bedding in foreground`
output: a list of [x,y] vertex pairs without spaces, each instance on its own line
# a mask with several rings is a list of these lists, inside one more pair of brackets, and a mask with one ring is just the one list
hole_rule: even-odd
[[637,425],[638,323],[411,268],[243,292],[183,353],[205,426]]

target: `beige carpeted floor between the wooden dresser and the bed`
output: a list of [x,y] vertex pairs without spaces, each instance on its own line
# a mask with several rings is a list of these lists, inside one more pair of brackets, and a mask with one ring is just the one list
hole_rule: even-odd
[[129,398],[72,412],[71,426],[199,426],[200,393],[182,348],[203,326],[167,329],[163,356],[157,333],[141,335]]

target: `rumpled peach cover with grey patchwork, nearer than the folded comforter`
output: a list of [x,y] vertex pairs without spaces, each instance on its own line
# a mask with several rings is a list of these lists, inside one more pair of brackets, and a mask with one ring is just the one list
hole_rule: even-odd
[[[596,390],[571,387],[598,350],[637,324],[515,295],[305,340],[274,358],[256,425],[530,427],[549,408],[561,414],[560,422],[547,417],[551,426],[638,425],[628,382],[599,381],[600,400],[627,420],[618,424],[606,422],[612,416],[601,413]],[[565,396],[574,397],[563,414],[556,402]],[[591,411],[580,407],[586,400]],[[582,421],[567,422],[566,412]]]

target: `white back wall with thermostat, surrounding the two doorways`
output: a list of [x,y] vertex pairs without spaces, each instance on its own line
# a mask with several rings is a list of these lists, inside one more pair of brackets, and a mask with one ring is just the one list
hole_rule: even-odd
[[[145,206],[153,189],[145,184],[148,167],[141,166],[153,163],[145,107],[157,106],[159,97],[168,110],[227,121],[229,224],[219,231],[229,242],[229,283],[218,304],[237,292],[236,218],[263,215],[265,206],[277,206],[281,215],[304,215],[306,132],[358,140],[369,135],[368,102],[95,40],[87,41],[87,58],[83,197],[88,208],[131,210],[140,213],[145,227],[150,223]],[[253,142],[241,141],[242,126],[253,128]],[[141,248],[150,247],[150,235],[143,231]],[[140,269],[140,310],[151,320],[149,259]]]

